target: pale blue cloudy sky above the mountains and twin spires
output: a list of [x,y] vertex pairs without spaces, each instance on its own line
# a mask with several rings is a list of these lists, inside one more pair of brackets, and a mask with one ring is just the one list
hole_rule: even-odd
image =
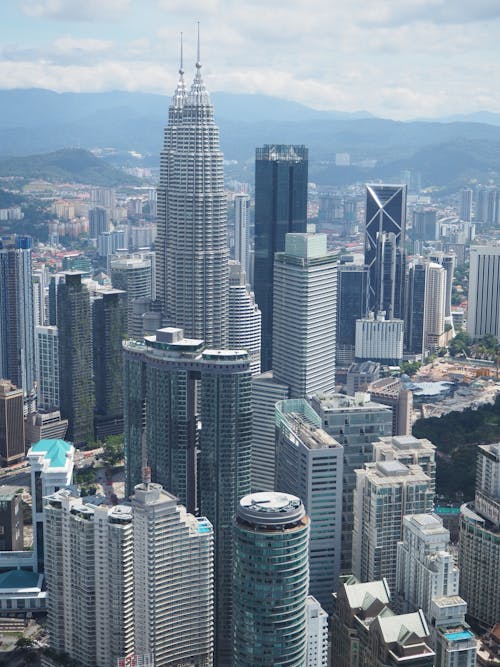
[[500,112],[500,0],[0,0],[0,88],[210,92],[408,120]]

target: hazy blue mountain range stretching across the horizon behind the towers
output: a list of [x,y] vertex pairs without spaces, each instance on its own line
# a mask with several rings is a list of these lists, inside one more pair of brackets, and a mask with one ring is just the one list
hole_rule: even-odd
[[[311,180],[320,184],[399,178],[402,169],[414,169],[423,185],[456,187],[472,179],[496,180],[500,173],[500,114],[400,122],[366,111],[318,111],[264,95],[211,98],[225,158],[238,162],[234,175],[245,180],[252,178],[255,147],[265,143],[308,146]],[[167,96],[146,93],[3,90],[0,158],[112,148],[107,159],[116,165],[156,167],[168,105]],[[376,166],[335,167],[335,153]]]

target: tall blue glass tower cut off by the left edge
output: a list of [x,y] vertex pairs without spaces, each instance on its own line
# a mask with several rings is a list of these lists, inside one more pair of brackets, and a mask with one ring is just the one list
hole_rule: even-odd
[[31,238],[0,239],[0,378],[24,391],[35,385]]

